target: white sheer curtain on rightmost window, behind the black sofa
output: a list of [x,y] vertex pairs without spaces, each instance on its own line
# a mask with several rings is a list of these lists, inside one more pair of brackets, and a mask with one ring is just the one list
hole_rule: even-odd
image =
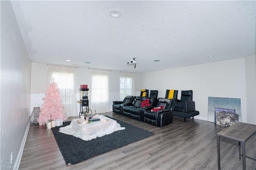
[[134,96],[134,73],[121,72],[120,100],[123,100],[128,95]]

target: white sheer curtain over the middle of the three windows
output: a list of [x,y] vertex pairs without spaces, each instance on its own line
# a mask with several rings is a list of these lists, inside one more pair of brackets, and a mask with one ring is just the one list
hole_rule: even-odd
[[92,113],[109,112],[109,71],[90,71],[89,105]]

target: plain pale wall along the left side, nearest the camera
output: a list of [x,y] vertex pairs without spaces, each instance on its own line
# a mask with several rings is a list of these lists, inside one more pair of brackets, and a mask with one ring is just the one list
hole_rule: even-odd
[[[1,162],[18,166],[29,128],[31,61],[10,1],[1,3]],[[11,153],[13,160],[11,164]]]

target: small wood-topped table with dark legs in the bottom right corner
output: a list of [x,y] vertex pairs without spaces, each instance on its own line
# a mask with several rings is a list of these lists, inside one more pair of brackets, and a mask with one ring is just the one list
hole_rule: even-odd
[[[218,170],[220,170],[220,136],[238,141],[239,159],[243,156],[243,169],[246,170],[245,158],[255,160],[245,155],[245,142],[256,132],[256,125],[238,122],[218,132]],[[242,145],[242,154],[241,154]]]

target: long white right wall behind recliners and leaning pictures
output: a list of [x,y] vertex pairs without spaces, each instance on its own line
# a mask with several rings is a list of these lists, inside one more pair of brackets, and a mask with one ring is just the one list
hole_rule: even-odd
[[206,121],[208,97],[240,98],[242,122],[246,123],[245,75],[245,59],[239,58],[142,73],[141,87],[158,89],[158,97],[164,97],[166,89],[176,89],[179,91],[178,99],[182,90],[193,90],[196,110],[200,112],[195,119]]

